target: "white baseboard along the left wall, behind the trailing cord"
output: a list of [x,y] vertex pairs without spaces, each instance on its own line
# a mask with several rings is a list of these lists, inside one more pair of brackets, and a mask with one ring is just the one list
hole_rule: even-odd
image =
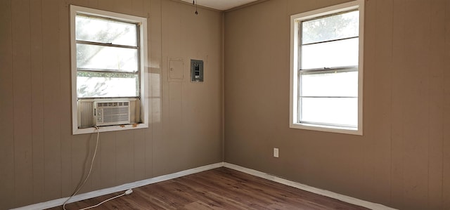
[[[220,162],[217,164],[210,164],[210,165],[206,165],[206,166],[200,166],[198,168],[195,169],[188,169],[185,171],[179,171],[176,173],[170,173],[167,175],[163,175],[163,176],[158,176],[155,178],[148,178],[146,180],[142,180],[142,181],[136,181],[134,183],[127,183],[127,184],[123,184],[123,185],[118,185],[115,186],[113,188],[105,188],[102,190],[96,190],[96,191],[92,191],[92,192],[86,192],[80,195],[75,195],[74,197],[72,197],[70,199],[70,201],[68,203],[72,203],[72,202],[77,202],[80,200],[84,200],[84,199],[90,199],[93,197],[98,197],[98,196],[102,196],[102,195],[108,195],[114,192],[120,192],[120,191],[125,191],[131,188],[139,188],[143,185],[150,185],[153,183],[159,183],[161,181],[167,181],[169,179],[173,179],[173,178],[179,178],[181,176],[186,176],[186,175],[190,175],[193,173],[199,173],[202,171],[207,171],[210,169],[217,169],[220,168],[221,166],[224,166],[224,162]],[[19,207],[13,210],[27,210],[27,209],[49,209],[49,208],[53,208],[55,206],[60,206],[62,205],[65,200],[68,199],[68,197],[63,197],[60,199],[53,199],[51,201],[48,202],[41,202],[39,204],[32,204],[29,206],[23,206],[23,207]]]

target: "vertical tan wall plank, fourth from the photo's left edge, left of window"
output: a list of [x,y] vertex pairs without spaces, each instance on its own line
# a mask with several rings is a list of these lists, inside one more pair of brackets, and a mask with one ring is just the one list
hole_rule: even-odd
[[[42,1],[43,77],[44,77],[44,199],[61,197],[60,143],[60,70],[59,8],[60,1]],[[67,83],[68,81],[64,81]]]

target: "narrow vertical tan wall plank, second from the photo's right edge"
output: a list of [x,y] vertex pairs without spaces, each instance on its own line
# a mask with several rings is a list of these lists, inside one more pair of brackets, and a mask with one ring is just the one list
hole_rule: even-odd
[[442,143],[444,140],[444,72],[445,63],[445,2],[431,1],[430,39],[430,125],[428,150],[428,209],[442,209]]

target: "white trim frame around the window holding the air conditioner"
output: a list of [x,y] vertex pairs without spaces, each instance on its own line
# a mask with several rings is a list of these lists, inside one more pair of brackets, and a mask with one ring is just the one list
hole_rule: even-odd
[[75,16],[77,13],[83,13],[86,15],[96,15],[103,18],[113,18],[116,20],[123,20],[127,22],[141,22],[139,30],[140,32],[140,60],[139,64],[141,67],[141,119],[142,123],[124,126],[102,126],[99,129],[100,132],[107,131],[123,131],[129,129],[145,129],[148,128],[148,93],[146,88],[148,88],[147,79],[147,18],[141,18],[134,15],[125,15],[121,13],[113,13],[109,11],[101,11],[94,8],[86,8],[82,6],[70,5],[70,48],[71,48],[71,76],[72,76],[72,134],[82,134],[82,133],[96,133],[95,128],[78,128],[78,117],[77,117],[77,48],[75,42]]

